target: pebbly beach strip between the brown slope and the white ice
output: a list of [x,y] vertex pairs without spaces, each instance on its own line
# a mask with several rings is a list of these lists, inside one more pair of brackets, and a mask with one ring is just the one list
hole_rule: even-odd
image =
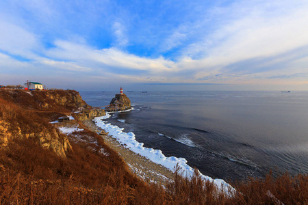
[[[84,120],[82,121],[82,124],[94,133],[100,133],[103,131],[103,129],[99,128],[99,126],[97,126],[92,119]],[[120,144],[110,135],[100,136],[104,139],[107,146],[118,152],[129,167],[129,170],[139,178],[142,178],[146,182],[155,182],[164,186],[168,184],[170,180],[174,179],[175,174],[170,169],[146,159],[145,156],[136,154],[135,152],[129,150],[129,148],[125,148],[123,144]]]

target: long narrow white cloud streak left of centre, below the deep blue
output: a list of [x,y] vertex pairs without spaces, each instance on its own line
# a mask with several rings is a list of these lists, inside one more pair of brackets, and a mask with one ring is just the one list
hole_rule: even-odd
[[175,63],[159,57],[149,59],[125,53],[116,48],[94,49],[85,44],[76,44],[57,40],[57,47],[47,51],[46,55],[51,59],[66,59],[76,61],[80,65],[89,64],[97,68],[122,68],[126,70],[146,70],[150,73],[171,72]]

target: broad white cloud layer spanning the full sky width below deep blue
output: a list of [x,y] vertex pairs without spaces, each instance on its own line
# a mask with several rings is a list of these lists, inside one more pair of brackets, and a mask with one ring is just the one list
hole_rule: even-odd
[[[26,9],[28,12],[44,7],[44,3],[36,6],[35,2],[31,1]],[[56,25],[52,23],[53,14],[57,15],[57,19],[70,16],[61,13],[63,11],[57,14],[55,8],[57,6],[46,8],[47,23],[51,22],[53,29]],[[71,15],[78,13],[75,10],[76,5],[70,9],[68,13]],[[44,32],[36,33],[40,27],[23,25],[27,20],[18,24],[10,23],[14,20],[1,18],[0,50],[4,54],[0,53],[0,69],[10,68],[16,72],[27,68],[33,72],[41,70],[47,75],[57,70],[61,74],[79,74],[97,81],[103,77],[138,82],[193,83],[202,80],[209,83],[236,84],[240,81],[277,83],[279,80],[285,83],[297,79],[303,83],[308,64],[308,49],[305,49],[305,46],[308,46],[307,10],[308,3],[304,1],[236,1],[224,8],[214,8],[211,14],[202,16],[199,13],[194,22],[194,18],[190,17],[190,20],[171,25],[170,31],[162,31],[164,35],[157,33],[156,42],[153,42],[153,45],[159,44],[155,56],[159,55],[159,52],[175,52],[172,59],[177,59],[176,61],[168,59],[168,55],[145,57],[138,52],[133,54],[125,50],[131,45],[138,46],[133,44],[134,41],[129,41],[132,38],[129,34],[134,31],[129,30],[131,25],[125,24],[133,18],[118,18],[116,22],[112,18],[103,23],[104,26],[109,25],[104,31],[109,29],[111,38],[116,39],[115,42],[109,42],[108,45],[112,47],[105,49],[94,44],[91,36],[80,35],[77,31],[73,33],[74,30],[68,32],[65,29],[65,35],[52,36],[51,39],[55,41],[48,42],[51,48],[50,45],[44,47],[44,32],[48,31],[48,24],[44,27]],[[90,7],[86,14],[88,12],[90,13]],[[1,14],[1,17],[3,15]],[[34,16],[41,15],[42,13]],[[87,20],[96,18],[95,15],[97,14],[82,22],[83,28],[86,28]],[[108,16],[107,13],[104,15]],[[129,18],[129,15],[123,16]],[[78,19],[81,18],[82,15]],[[73,24],[70,24],[68,19],[64,21],[70,29],[79,23],[72,21]],[[44,23],[44,19],[40,23]],[[38,25],[42,25],[40,23]],[[144,33],[160,32],[155,25],[146,27],[145,21],[142,26],[144,27],[138,29],[138,38],[142,35],[146,38]],[[94,23],[91,27],[95,27]],[[163,27],[166,29],[165,25]],[[155,33],[151,34],[150,40],[154,40]],[[146,56],[152,56],[151,52]],[[29,61],[18,61],[18,57]]]

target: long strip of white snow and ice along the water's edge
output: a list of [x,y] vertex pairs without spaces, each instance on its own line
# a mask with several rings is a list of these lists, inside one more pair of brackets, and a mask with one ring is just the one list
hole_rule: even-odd
[[[95,124],[102,128],[103,130],[109,132],[109,135],[114,137],[120,143],[123,143],[126,148],[129,148],[131,151],[136,154],[140,154],[141,156],[145,156],[150,161],[157,163],[159,165],[163,165],[164,167],[174,171],[176,165],[179,165],[184,175],[192,176],[194,173],[194,169],[187,164],[186,159],[177,158],[175,156],[166,157],[162,150],[154,150],[153,148],[145,148],[143,143],[136,141],[135,135],[131,132],[125,133],[123,132],[124,128],[119,128],[118,126],[112,125],[104,121],[107,118],[110,118],[110,113],[106,113],[105,116],[94,118]],[[201,174],[201,173],[200,173]],[[214,181],[217,185],[218,189],[224,189],[226,193],[229,192],[229,188],[231,191],[235,191],[227,182],[221,179],[212,179],[209,176],[205,176],[201,174],[201,177],[205,180]]]

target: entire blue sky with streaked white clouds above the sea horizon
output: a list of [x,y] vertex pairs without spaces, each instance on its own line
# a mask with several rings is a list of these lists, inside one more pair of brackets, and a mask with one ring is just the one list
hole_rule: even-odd
[[0,1],[0,84],[308,90],[308,1]]

